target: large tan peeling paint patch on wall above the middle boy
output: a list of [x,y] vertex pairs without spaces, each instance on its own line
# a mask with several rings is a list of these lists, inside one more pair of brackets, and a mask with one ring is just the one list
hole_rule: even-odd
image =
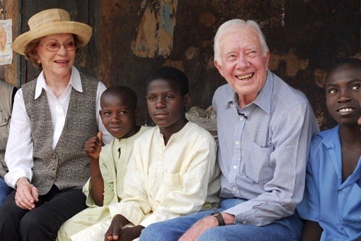
[[[168,57],[173,47],[178,0],[161,0],[148,4],[138,27],[137,40],[131,49],[137,57]],[[141,4],[144,8],[144,2]]]

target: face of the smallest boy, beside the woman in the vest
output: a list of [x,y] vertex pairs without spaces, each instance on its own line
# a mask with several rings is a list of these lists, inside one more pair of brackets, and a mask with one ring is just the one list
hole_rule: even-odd
[[116,138],[128,138],[135,134],[138,110],[133,110],[120,95],[108,94],[101,99],[101,119],[105,129]]

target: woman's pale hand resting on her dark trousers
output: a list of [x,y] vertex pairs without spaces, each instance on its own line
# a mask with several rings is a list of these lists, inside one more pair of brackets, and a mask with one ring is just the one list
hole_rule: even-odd
[[15,203],[19,208],[31,210],[35,208],[35,202],[39,199],[39,190],[30,184],[29,180],[25,177],[19,178],[16,182]]

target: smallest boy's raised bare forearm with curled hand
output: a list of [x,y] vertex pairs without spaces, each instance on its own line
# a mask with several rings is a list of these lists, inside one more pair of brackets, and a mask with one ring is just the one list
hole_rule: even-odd
[[85,151],[89,157],[91,167],[91,184],[93,189],[93,199],[96,205],[103,206],[104,200],[104,181],[99,167],[99,155],[101,153],[101,137],[102,132],[99,131],[97,136],[93,136],[85,143]]

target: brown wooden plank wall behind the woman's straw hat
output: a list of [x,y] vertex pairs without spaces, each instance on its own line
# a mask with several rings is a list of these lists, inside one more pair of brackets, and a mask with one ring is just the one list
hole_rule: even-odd
[[[28,20],[35,13],[48,8],[63,8],[70,13],[70,18],[82,23],[97,27],[98,1],[88,0],[2,0],[4,3],[4,19],[13,19],[13,39],[28,30]],[[96,15],[94,15],[96,14]],[[96,32],[97,33],[97,32]],[[96,40],[92,37],[86,47],[82,48],[76,57],[76,67],[91,76],[98,76],[98,57],[96,55]],[[24,57],[13,52],[13,64],[0,66],[1,76],[5,76],[6,81],[16,86],[33,80],[40,73]],[[1,77],[0,76],[0,77]]]

